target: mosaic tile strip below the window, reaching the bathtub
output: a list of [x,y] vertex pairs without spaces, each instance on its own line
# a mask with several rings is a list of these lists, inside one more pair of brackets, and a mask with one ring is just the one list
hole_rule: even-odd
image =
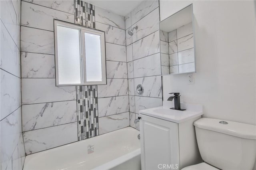
[[97,85],[76,86],[78,140],[99,134]]

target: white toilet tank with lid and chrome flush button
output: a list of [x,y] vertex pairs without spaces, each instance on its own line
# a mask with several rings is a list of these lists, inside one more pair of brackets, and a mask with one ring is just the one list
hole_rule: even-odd
[[256,159],[255,125],[201,118],[194,126],[205,162],[222,170],[252,170]]

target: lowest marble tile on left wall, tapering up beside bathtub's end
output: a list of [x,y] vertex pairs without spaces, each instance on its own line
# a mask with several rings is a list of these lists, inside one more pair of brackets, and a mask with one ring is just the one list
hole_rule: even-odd
[[20,133],[20,139],[12,153],[12,158],[9,161],[7,170],[22,170],[25,160],[25,149],[22,133]]

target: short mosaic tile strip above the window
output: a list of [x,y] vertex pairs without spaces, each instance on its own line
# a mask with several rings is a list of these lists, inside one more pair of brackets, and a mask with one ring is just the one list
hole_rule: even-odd
[[95,29],[95,6],[75,0],[75,24]]

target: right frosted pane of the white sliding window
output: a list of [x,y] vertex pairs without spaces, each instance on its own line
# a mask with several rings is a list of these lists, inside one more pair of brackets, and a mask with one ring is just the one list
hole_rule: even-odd
[[102,81],[100,36],[84,33],[86,81]]

